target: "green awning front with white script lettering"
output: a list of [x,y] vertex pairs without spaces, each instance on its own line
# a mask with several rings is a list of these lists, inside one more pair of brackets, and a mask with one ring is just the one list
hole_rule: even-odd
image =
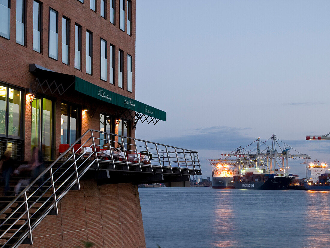
[[119,95],[110,90],[106,90],[100,86],[89,83],[75,76],[75,89],[85,95],[94,97],[107,103],[112,103],[120,107],[124,107],[130,110],[134,110],[141,114],[145,114],[154,117],[159,120],[166,121],[166,112],[151,107],[145,103],[141,103],[129,97]]

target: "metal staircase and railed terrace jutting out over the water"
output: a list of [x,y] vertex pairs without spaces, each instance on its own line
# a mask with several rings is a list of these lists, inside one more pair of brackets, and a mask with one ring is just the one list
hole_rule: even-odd
[[[111,150],[118,142],[124,150],[121,161],[112,152],[104,156],[103,144]],[[139,156],[143,150],[149,154],[145,162]],[[196,151],[89,129],[16,197],[1,198],[0,248],[32,244],[34,228],[48,214],[58,215],[58,202],[70,189],[80,190],[79,180],[89,169],[201,174]]]

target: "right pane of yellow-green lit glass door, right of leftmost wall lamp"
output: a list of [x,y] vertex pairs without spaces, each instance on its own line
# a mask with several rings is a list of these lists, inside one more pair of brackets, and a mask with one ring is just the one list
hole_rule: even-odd
[[52,136],[52,101],[49,99],[43,99],[43,110],[42,110],[42,137],[41,150],[45,156],[45,159],[51,158],[51,136]]

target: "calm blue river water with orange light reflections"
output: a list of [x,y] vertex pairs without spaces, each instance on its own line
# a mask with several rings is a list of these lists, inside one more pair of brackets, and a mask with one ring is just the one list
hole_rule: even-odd
[[139,188],[147,248],[330,247],[330,192]]

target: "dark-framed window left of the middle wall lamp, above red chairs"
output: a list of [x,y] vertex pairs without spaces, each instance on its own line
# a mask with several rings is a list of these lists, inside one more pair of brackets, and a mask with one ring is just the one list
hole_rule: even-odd
[[81,110],[74,105],[61,103],[61,144],[72,145],[80,137]]

